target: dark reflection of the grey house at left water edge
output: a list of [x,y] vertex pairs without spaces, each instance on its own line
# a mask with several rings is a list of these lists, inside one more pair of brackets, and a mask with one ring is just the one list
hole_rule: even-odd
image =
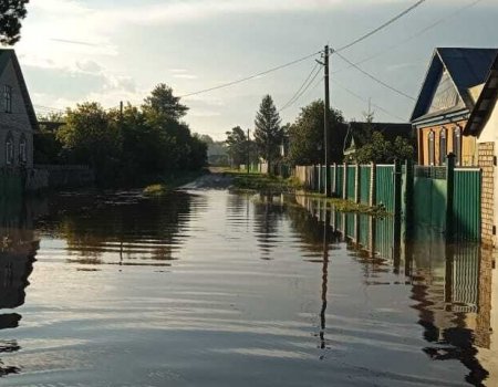
[[[33,271],[39,242],[33,233],[35,206],[21,200],[0,200],[0,331],[15,328],[22,316],[2,313],[24,304],[25,289]],[[1,354],[21,349],[15,339],[0,339]],[[6,365],[0,359],[0,377],[18,374],[21,368]]]

